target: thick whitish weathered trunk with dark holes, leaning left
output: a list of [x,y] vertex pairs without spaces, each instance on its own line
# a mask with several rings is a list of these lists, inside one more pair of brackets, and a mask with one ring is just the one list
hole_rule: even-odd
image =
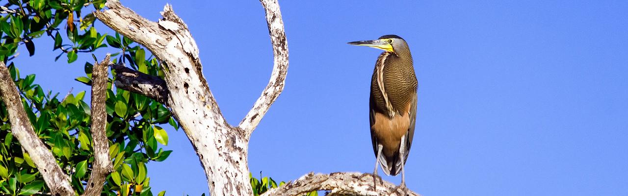
[[119,1],[94,15],[102,23],[145,46],[163,63],[166,104],[197,152],[210,195],[252,195],[247,161],[248,138],[222,116],[203,77],[198,47],[183,20],[166,5],[157,23]]

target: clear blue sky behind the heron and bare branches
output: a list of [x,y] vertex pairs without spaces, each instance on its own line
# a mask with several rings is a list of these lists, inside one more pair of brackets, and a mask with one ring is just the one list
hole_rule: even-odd
[[[122,3],[151,20],[173,4],[197,41],[223,114],[232,124],[244,117],[272,68],[258,1]],[[423,195],[628,195],[628,1],[280,4],[290,70],[252,135],[254,175],[288,181],[310,171],[371,172],[367,101],[381,51],[346,43],[396,34],[409,43],[419,81],[409,188]],[[51,43],[36,44],[35,58],[18,60],[23,74],[38,74],[37,83],[62,94],[87,90],[72,79],[89,55],[50,63]],[[207,193],[188,139],[168,134],[166,148],[175,152],[149,165],[151,187]]]

